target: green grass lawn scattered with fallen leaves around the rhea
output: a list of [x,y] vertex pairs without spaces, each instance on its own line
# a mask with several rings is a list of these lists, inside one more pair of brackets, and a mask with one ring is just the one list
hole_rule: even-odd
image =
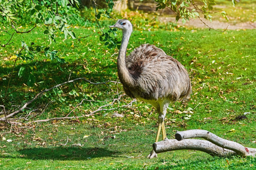
[[[107,49],[99,41],[100,32],[85,28],[76,28],[75,31],[81,37],[93,34],[81,41],[63,41],[64,35],[59,35],[53,49],[66,60],[60,65],[63,71],[56,61],[50,61],[43,54],[37,54],[33,61],[17,61],[9,91],[18,90],[8,97],[6,109],[16,110],[17,107],[12,105],[23,105],[38,92],[67,81],[69,76],[70,80],[86,77],[93,82],[118,81],[117,54],[113,55],[118,50]],[[33,41],[48,45],[47,37],[39,32],[42,31],[37,28],[31,33],[16,36],[12,45],[1,49],[1,96],[5,94],[14,64],[13,55],[21,47],[20,40],[25,40],[27,44]],[[3,40],[8,39],[4,32],[0,36]],[[120,31],[118,38],[121,39]],[[191,98],[169,106],[165,120],[168,138],[174,138],[176,130],[204,129],[246,147],[256,148],[255,42],[256,30],[148,32],[136,31],[135,28],[128,53],[143,43],[154,44],[179,60],[187,68],[192,81]],[[31,68],[26,71],[35,75],[34,87],[26,86],[28,76],[18,77],[21,66]],[[77,81],[47,92],[29,105],[30,110],[39,108],[31,112],[31,115],[38,114],[31,120],[65,116],[84,98],[94,101],[84,101],[71,116],[90,114],[110,102],[106,100],[124,93],[122,85],[108,85],[113,91],[105,85]],[[212,158],[195,150],[161,153],[158,158],[147,159],[156,137],[157,115],[151,105],[142,101],[134,102],[132,107],[118,107],[131,100],[125,96],[108,107],[115,110],[97,112],[90,117],[15,125],[13,133],[1,134],[0,169],[256,169],[256,158]],[[44,110],[49,102],[51,104]],[[189,107],[192,112],[187,111]],[[40,114],[42,110],[44,112]],[[124,117],[110,117],[113,112]],[[245,112],[249,113],[244,119],[239,117]],[[26,110],[16,117],[25,114]],[[0,128],[1,132],[10,130],[5,123],[1,123]],[[12,141],[8,143],[8,139]]]

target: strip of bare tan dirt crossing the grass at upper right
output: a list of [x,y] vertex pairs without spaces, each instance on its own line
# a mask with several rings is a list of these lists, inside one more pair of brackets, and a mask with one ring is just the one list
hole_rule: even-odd
[[[175,17],[159,17],[158,18],[160,22],[172,22],[175,23]],[[210,22],[209,20],[205,20],[204,18],[202,18],[202,20],[209,25],[211,28],[214,29],[220,29],[220,30],[225,30],[228,26],[228,30],[238,30],[238,29],[256,29],[256,23],[251,23],[251,22],[246,22],[246,23],[237,23],[237,24],[233,24],[233,23],[224,23],[224,22],[220,22],[217,20],[213,20],[212,22]],[[177,22],[177,24],[179,25],[183,25],[182,21],[179,20]],[[200,21],[199,19],[194,20],[194,19],[190,19],[189,21],[187,21],[184,26],[187,27],[192,27],[192,28],[208,28],[204,23],[202,23],[202,21]]]

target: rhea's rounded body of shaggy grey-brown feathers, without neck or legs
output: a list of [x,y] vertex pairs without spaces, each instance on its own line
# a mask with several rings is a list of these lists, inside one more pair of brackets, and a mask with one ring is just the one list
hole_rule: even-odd
[[132,98],[170,102],[187,99],[191,87],[184,66],[160,48],[143,44],[126,57],[126,67],[134,84],[123,84],[125,93]]

